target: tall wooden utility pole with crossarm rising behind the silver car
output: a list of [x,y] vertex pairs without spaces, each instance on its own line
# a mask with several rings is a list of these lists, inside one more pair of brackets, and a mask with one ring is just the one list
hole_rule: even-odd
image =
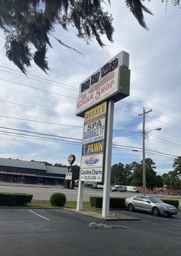
[[145,116],[146,114],[152,112],[152,109],[149,111],[145,111],[145,108],[143,108],[143,113],[139,114],[139,116],[143,115],[143,195],[146,195],[146,171],[145,171]]

